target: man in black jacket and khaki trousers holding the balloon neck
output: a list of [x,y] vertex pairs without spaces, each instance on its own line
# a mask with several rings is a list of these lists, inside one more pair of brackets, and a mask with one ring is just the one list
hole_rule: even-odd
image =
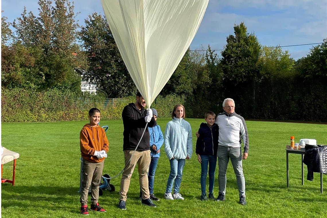
[[[120,182],[120,201],[118,208],[126,210],[127,192],[129,189],[130,177],[133,174],[137,164],[139,171],[140,189],[142,191],[142,203],[150,207],[156,207],[150,199],[147,173],[151,161],[150,157],[150,135],[146,127],[146,123],[154,122],[152,110],[144,109],[146,102],[140,92],[136,94],[136,102],[130,103],[123,109],[123,125],[124,125],[124,158],[125,167]],[[144,135],[141,139],[142,133]],[[141,141],[140,141],[141,139]],[[140,141],[140,143],[139,143]],[[135,148],[139,143],[136,151]]]

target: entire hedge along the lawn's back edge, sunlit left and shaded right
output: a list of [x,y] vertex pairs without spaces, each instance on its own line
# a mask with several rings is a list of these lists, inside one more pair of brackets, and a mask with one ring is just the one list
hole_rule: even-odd
[[[271,77],[217,92],[224,94],[207,98],[209,100],[197,96],[159,95],[151,107],[157,109],[159,117],[171,117],[174,106],[183,104],[186,117],[203,118],[208,110],[222,112],[223,99],[231,97],[235,100],[235,111],[246,119],[327,122],[327,84],[324,80],[295,78],[289,81]],[[56,89],[45,92],[3,89],[1,97],[2,122],[87,120],[88,110],[93,107],[101,110],[102,119],[121,119],[123,108],[135,102],[135,96],[130,96],[107,104],[101,94],[86,98]]]

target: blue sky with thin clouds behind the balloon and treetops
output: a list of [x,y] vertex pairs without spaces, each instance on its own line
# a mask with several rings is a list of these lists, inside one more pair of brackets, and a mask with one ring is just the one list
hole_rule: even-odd
[[[20,17],[24,6],[38,15],[38,0],[2,0],[2,16],[12,22]],[[103,13],[100,0],[75,0],[79,24],[93,12]],[[322,42],[327,37],[327,0],[209,0],[191,49],[201,45],[223,49],[234,24],[244,22],[259,42],[267,46],[284,46]],[[306,56],[314,45],[284,47],[291,57]],[[219,51],[217,51],[219,53]]]

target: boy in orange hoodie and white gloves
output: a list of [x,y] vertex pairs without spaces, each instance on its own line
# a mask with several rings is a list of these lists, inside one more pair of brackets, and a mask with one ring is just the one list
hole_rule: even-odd
[[91,210],[107,212],[99,206],[99,186],[102,178],[104,159],[107,158],[109,142],[101,126],[100,110],[91,108],[89,111],[89,124],[85,124],[80,131],[80,150],[83,161],[81,186],[81,214],[89,215],[87,198],[91,186]]

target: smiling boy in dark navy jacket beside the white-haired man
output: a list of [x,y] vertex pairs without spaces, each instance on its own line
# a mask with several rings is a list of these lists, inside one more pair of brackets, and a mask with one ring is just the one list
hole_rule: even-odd
[[201,123],[199,128],[199,137],[197,139],[196,153],[198,161],[201,164],[201,200],[208,200],[206,196],[206,177],[209,164],[209,195],[210,199],[215,199],[214,183],[215,170],[217,164],[217,148],[218,148],[218,126],[215,124],[215,113],[208,111],[205,113],[206,123]]

